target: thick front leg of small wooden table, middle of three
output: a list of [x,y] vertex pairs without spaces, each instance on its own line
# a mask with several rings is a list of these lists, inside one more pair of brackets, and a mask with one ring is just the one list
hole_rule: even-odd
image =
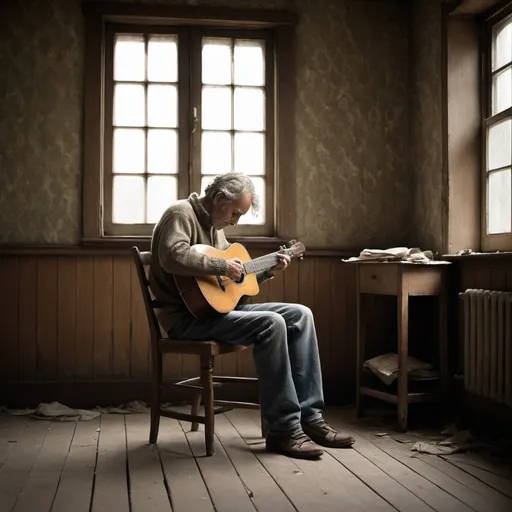
[[407,357],[409,348],[409,295],[404,290],[404,284],[397,298],[398,310],[398,430],[407,430],[408,415],[408,386],[407,386]]

